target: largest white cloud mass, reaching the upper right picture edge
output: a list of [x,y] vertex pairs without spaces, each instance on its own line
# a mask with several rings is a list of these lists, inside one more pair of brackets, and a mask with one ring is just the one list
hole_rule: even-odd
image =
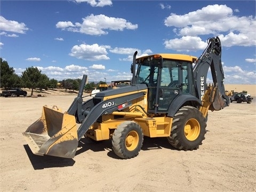
[[[236,12],[235,10],[234,12]],[[164,21],[165,26],[174,27],[178,36],[218,35],[223,46],[256,45],[256,20],[249,17],[237,17],[227,5],[208,5],[200,10],[184,15],[171,13]],[[222,33],[227,33],[223,35]]]

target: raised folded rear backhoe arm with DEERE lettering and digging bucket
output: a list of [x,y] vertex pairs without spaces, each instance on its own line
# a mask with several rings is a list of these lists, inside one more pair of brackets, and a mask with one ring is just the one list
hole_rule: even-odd
[[[208,45],[193,68],[197,97],[202,106],[210,110],[220,110],[229,106],[223,84],[224,73],[221,64],[221,43],[219,37],[208,39]],[[207,72],[211,68],[212,86],[206,86]],[[207,113],[206,110],[206,113]]]

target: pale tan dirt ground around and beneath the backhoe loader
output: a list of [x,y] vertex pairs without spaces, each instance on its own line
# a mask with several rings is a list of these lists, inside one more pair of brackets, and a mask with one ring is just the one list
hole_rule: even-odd
[[22,132],[42,106],[65,111],[75,97],[0,98],[1,191],[256,191],[256,101],[210,111],[194,151],[145,138],[137,157],[120,159],[110,141],[82,138],[73,159],[33,155]]

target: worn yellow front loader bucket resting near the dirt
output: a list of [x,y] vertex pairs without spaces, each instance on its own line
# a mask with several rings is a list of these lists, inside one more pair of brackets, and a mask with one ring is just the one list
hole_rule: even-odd
[[23,133],[35,155],[73,158],[78,146],[75,116],[43,106],[42,117]]

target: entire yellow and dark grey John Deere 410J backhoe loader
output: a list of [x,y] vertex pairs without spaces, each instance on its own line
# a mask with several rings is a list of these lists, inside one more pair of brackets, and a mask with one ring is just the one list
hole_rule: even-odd
[[[197,149],[205,139],[208,111],[229,106],[220,39],[207,43],[198,59],[183,54],[136,58],[136,51],[131,85],[98,92],[86,101],[84,75],[67,111],[43,106],[41,118],[23,132],[31,151],[74,158],[83,137],[111,139],[114,153],[124,159],[139,154],[143,137],[165,137],[178,150]],[[209,68],[213,83],[206,85]]]

